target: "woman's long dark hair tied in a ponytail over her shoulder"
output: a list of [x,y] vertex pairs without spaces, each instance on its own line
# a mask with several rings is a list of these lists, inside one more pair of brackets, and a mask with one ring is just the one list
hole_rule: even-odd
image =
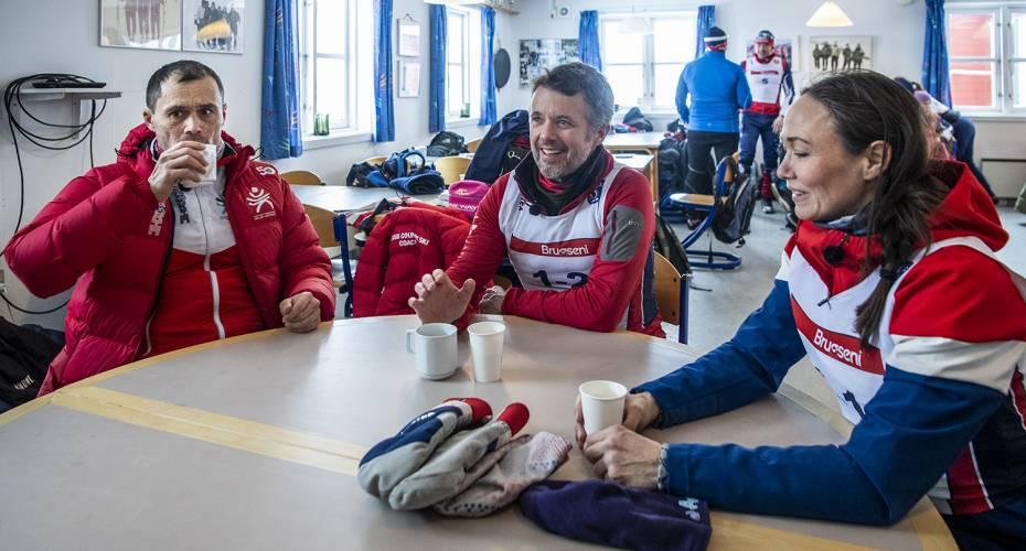
[[[873,270],[877,261],[880,266],[879,283],[856,310],[855,329],[866,345],[879,329],[887,295],[900,271],[916,250],[930,246],[930,213],[947,190],[928,174],[927,123],[919,105],[901,85],[879,73],[858,71],[823,78],[804,95],[826,108],[848,153],[863,153],[881,140],[890,154],[866,206],[869,238],[865,269]],[[878,259],[870,256],[875,242],[883,249]]]

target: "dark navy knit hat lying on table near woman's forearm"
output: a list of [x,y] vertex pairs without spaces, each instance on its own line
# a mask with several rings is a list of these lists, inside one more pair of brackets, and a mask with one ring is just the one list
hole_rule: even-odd
[[704,550],[713,533],[705,501],[606,480],[537,483],[520,510],[549,532],[623,549]]

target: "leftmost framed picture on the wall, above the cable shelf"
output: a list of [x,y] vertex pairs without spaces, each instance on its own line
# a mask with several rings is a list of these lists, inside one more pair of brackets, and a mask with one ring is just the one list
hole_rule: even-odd
[[182,4],[167,0],[100,0],[99,45],[182,48]]

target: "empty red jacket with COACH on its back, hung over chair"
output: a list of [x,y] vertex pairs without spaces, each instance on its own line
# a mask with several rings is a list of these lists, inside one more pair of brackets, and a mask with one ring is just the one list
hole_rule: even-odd
[[420,277],[460,256],[470,222],[460,210],[412,204],[382,218],[360,253],[353,316],[413,314],[407,300]]

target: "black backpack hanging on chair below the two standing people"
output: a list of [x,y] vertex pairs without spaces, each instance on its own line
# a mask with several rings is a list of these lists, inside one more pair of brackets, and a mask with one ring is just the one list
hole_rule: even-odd
[[748,174],[738,174],[737,161],[733,156],[724,158],[716,168],[713,194],[716,196],[713,235],[725,244],[738,241],[738,247],[745,245],[751,213],[759,202],[759,188],[752,185]]

